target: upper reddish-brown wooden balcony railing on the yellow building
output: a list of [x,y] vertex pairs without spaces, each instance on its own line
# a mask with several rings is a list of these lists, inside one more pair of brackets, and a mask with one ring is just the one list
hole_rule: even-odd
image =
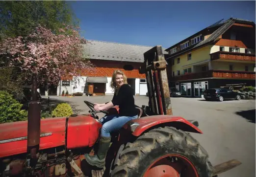
[[224,52],[218,51],[211,53],[211,60],[240,60],[240,61],[251,61],[255,62],[255,54],[251,53],[234,53],[234,52]]

